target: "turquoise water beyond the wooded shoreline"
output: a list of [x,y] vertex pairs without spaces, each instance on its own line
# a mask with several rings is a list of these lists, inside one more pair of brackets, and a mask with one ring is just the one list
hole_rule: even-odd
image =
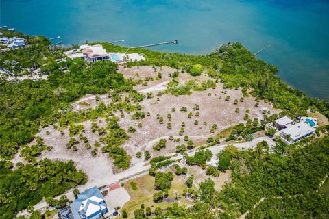
[[177,39],[160,51],[206,54],[242,42],[278,66],[278,75],[329,100],[329,1],[0,0],[0,25],[61,36],[64,44],[125,40],[136,46]]

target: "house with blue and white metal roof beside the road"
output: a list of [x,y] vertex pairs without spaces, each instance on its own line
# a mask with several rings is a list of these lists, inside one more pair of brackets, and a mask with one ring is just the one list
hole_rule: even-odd
[[96,186],[78,194],[70,208],[74,219],[100,219],[108,213],[104,197]]

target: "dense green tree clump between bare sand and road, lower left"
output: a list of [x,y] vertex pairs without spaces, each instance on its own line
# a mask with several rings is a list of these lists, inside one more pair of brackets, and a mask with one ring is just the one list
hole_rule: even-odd
[[8,170],[0,162],[0,218],[14,218],[17,211],[35,205],[42,197],[54,197],[75,185],[84,184],[86,175],[70,162],[41,160],[38,166],[28,164]]

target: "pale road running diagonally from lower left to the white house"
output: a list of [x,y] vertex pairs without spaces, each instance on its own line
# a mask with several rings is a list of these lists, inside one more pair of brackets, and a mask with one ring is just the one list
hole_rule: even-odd
[[[212,135],[215,133],[212,133]],[[192,137],[196,137],[196,136],[192,136]],[[163,137],[162,137],[163,138]],[[190,137],[191,138],[191,137]],[[199,138],[207,138],[205,136],[199,136]],[[273,140],[271,140],[271,138],[265,136],[265,137],[260,137],[260,138],[256,138],[254,139],[252,142],[245,142],[245,143],[232,143],[234,146],[236,146],[238,149],[249,149],[249,148],[254,148],[256,147],[256,144],[258,142],[262,142],[263,140],[265,140],[269,146],[273,146],[275,144],[275,142],[273,142]],[[228,144],[223,144],[223,145],[214,145],[214,146],[210,146],[207,149],[210,149],[210,151],[212,151],[212,154],[217,154],[220,151],[222,151],[225,146],[227,146]],[[197,150],[191,150],[191,151],[187,151],[187,154],[192,156],[195,154],[195,151]],[[182,159],[184,157],[184,155],[178,155],[175,157],[175,159]],[[85,185],[80,185],[79,187],[77,187],[80,192],[91,188],[93,186],[103,186],[103,185],[109,185],[111,183],[116,183],[117,181],[119,181],[120,179],[124,179],[127,177],[133,177],[134,175],[149,170],[149,168],[151,168],[151,165],[149,165],[149,162],[139,162],[137,164],[135,164],[134,166],[132,166],[131,168],[129,168],[128,170],[125,170],[123,172],[120,172],[116,175],[104,175],[103,178],[101,179],[97,179],[97,181],[93,182],[93,185],[90,185],[90,183],[86,183]],[[73,195],[73,190],[69,190],[68,192],[66,192],[64,195],[67,196],[67,198],[69,198],[70,200],[74,200],[75,197]],[[60,196],[57,196],[56,198],[60,198]],[[41,201],[40,203],[34,205],[34,210],[40,210],[40,209],[45,209],[46,207],[48,207],[48,204],[45,201]],[[27,211],[22,211],[19,214],[17,214],[17,216],[20,215],[28,215]]]

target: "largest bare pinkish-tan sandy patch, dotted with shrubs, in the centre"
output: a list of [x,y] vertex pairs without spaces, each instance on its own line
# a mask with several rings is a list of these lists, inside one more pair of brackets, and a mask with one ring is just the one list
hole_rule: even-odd
[[[136,151],[144,151],[150,149],[148,142],[156,138],[168,137],[170,135],[179,136],[182,122],[186,123],[184,127],[184,133],[181,138],[181,143],[184,142],[184,136],[208,136],[213,124],[217,124],[217,130],[229,125],[243,122],[243,116],[245,110],[249,109],[250,118],[263,118],[262,110],[264,108],[271,110],[271,113],[279,112],[273,110],[271,105],[260,101],[259,107],[254,107],[256,101],[254,98],[247,97],[244,102],[239,102],[237,105],[233,104],[234,99],[240,99],[242,96],[241,90],[228,90],[226,95],[221,94],[223,89],[221,86],[217,86],[216,89],[206,90],[202,92],[193,92],[189,96],[172,96],[169,94],[163,94],[160,96],[160,101],[156,98],[145,99],[141,105],[142,111],[150,113],[150,116],[145,116],[143,120],[131,120],[131,116],[125,113],[125,118],[121,118],[119,125],[124,129],[132,126],[137,130],[136,133],[130,133],[130,139],[123,144],[125,149],[134,155]],[[208,93],[211,96],[208,96]],[[230,95],[231,100],[225,101],[225,96]],[[219,99],[219,96],[222,96]],[[200,106],[200,110],[193,110],[195,105]],[[181,112],[181,107],[187,107],[187,112]],[[175,107],[175,112],[171,111],[171,108]],[[240,112],[234,112],[236,107],[239,107]],[[188,112],[193,113],[192,118],[188,118]],[[195,113],[199,112],[199,116],[195,116]],[[163,117],[163,124],[159,124],[156,118],[156,114],[160,114]],[[169,122],[167,114],[171,114],[171,121]],[[119,114],[118,114],[119,116]],[[199,124],[195,125],[195,120],[198,120]],[[203,125],[206,122],[207,125]],[[142,123],[143,127],[138,128],[138,123]],[[171,130],[167,129],[167,123],[171,123]],[[208,138],[208,137],[207,137]],[[157,142],[154,142],[155,144]],[[160,153],[173,153],[175,151],[175,143],[167,140],[167,148],[162,149]],[[186,142],[185,142],[186,144]],[[157,151],[151,150],[154,155],[160,155]],[[135,160],[133,159],[133,162]]]

